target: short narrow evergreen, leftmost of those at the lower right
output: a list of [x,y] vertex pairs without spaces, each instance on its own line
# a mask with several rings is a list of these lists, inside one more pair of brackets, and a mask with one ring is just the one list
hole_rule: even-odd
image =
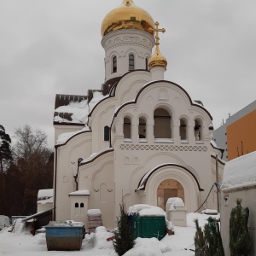
[[201,230],[197,218],[195,219],[195,228],[195,256],[209,256],[207,238]]

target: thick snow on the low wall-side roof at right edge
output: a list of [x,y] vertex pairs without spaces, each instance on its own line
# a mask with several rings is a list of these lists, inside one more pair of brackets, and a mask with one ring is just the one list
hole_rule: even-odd
[[252,185],[256,185],[256,151],[226,163],[221,189],[237,189]]

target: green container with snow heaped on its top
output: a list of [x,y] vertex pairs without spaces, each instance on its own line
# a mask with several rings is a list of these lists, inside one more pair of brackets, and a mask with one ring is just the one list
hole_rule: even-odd
[[140,216],[135,214],[131,217],[131,224],[136,238],[156,237],[161,240],[166,236],[165,216]]

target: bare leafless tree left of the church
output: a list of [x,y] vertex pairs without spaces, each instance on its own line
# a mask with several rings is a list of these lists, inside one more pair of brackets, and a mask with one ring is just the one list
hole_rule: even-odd
[[49,189],[49,181],[52,181],[53,173],[49,173],[52,152],[47,147],[45,132],[33,130],[30,125],[17,128],[15,139],[15,163],[21,172],[23,183],[20,214],[30,214],[36,211],[38,189]]

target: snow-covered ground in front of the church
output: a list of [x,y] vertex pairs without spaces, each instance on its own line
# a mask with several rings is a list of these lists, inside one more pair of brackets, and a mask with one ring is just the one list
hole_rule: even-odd
[[[207,223],[209,215],[199,213],[189,213],[187,215],[188,227],[174,227],[174,236],[164,237],[161,241],[156,238],[137,238],[137,243],[125,256],[192,256],[195,255],[194,219],[199,219],[199,224],[203,226]],[[218,216],[212,216],[218,218]],[[72,256],[117,256],[113,251],[112,241],[106,238],[112,236],[104,228],[100,228],[96,233],[86,235],[80,251],[61,252],[47,251],[45,234],[31,236],[24,233],[9,233],[7,229],[0,231],[0,255],[19,256],[44,256],[44,255],[72,255]]]

